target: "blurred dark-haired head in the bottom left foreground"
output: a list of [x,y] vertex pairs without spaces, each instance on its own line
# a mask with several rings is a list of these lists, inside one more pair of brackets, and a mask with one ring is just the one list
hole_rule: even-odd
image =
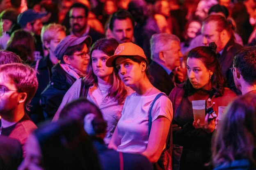
[[62,120],[35,130],[18,170],[100,170],[94,147],[82,125]]

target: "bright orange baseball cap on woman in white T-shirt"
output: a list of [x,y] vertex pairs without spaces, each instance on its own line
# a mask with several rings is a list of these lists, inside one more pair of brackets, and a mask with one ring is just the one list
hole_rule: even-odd
[[144,51],[141,47],[137,46],[133,42],[125,42],[118,45],[114,55],[107,59],[106,66],[114,67],[114,59],[121,56],[140,56],[146,59]]

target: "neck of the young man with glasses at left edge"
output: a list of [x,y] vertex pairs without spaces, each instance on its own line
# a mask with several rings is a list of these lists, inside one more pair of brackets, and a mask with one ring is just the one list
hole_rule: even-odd
[[1,114],[1,123],[3,128],[7,128],[11,125],[14,125],[18,121],[20,121],[25,115],[24,107],[17,108],[16,110],[12,110],[8,113]]

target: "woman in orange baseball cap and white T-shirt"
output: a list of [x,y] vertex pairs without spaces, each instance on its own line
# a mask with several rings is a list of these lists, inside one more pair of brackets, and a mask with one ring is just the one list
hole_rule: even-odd
[[132,42],[120,44],[114,56],[107,59],[123,83],[135,92],[126,97],[121,119],[112,136],[109,148],[119,152],[139,153],[149,161],[158,161],[172,120],[172,104],[160,96],[152,107],[152,127],[149,131],[149,110],[158,94],[149,81],[148,62],[144,51]]

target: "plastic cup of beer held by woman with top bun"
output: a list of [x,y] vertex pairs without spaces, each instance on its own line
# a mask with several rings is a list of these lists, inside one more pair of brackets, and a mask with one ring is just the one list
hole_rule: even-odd
[[192,101],[194,121],[200,120],[200,125],[204,126],[205,119],[205,100]]

